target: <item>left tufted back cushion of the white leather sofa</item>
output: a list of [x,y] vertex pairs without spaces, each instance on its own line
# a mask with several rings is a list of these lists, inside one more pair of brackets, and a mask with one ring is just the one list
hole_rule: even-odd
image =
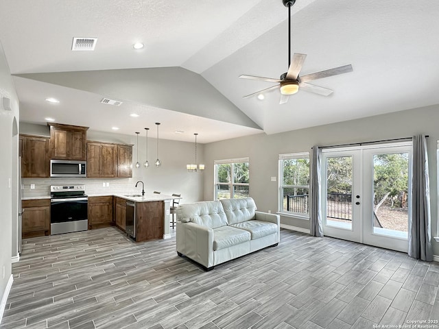
[[208,228],[219,228],[227,225],[226,214],[219,201],[180,204],[177,208],[177,220],[185,223],[191,221]]

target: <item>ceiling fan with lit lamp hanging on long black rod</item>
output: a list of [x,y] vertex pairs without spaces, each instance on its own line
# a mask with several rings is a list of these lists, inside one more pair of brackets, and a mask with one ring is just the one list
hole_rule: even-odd
[[329,69],[325,71],[320,71],[316,73],[311,73],[307,75],[299,76],[302,65],[305,62],[307,56],[304,53],[294,53],[291,61],[291,8],[296,0],[282,0],[283,5],[288,8],[288,71],[283,73],[279,79],[271,77],[257,77],[254,75],[239,75],[243,79],[259,80],[267,82],[278,82],[275,86],[259,90],[256,93],[244,96],[244,98],[252,97],[254,95],[261,94],[266,91],[274,90],[279,88],[281,91],[281,101],[280,104],[287,103],[289,95],[293,95],[298,92],[299,89],[309,91],[311,93],[316,93],[318,95],[328,96],[333,93],[333,90],[328,88],[323,88],[320,86],[315,86],[309,84],[308,82],[313,80],[322,79],[324,77],[331,77],[333,75],[339,75],[342,73],[352,72],[352,65],[344,65],[340,67],[335,67],[334,69]]

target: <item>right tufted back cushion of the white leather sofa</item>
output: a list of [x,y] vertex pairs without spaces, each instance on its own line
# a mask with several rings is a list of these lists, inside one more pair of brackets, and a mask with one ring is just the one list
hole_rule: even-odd
[[250,221],[256,217],[256,204],[251,197],[245,199],[222,199],[220,200],[226,212],[228,225]]

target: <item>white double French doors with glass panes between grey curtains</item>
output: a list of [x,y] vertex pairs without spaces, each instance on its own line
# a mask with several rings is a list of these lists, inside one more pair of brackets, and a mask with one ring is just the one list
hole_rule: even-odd
[[411,143],[324,150],[324,234],[407,252],[411,161]]

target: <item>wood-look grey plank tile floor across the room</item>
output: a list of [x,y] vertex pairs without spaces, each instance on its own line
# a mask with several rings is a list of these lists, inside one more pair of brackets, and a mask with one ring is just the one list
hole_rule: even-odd
[[13,275],[1,329],[439,328],[438,263],[287,230],[278,247],[209,272],[178,257],[175,238],[26,239]]

